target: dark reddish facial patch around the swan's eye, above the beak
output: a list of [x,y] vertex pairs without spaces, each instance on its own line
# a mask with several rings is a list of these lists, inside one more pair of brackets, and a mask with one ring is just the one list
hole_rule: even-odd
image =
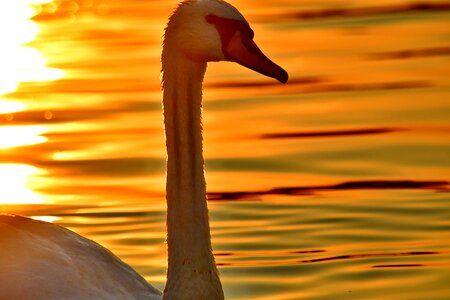
[[225,55],[227,55],[225,49],[237,31],[240,31],[242,37],[245,37],[245,39],[243,39],[244,44],[245,40],[252,40],[255,36],[255,33],[250,28],[247,22],[218,17],[212,14],[207,15],[205,19],[206,22],[213,24],[219,32],[220,39],[222,41],[222,50]]

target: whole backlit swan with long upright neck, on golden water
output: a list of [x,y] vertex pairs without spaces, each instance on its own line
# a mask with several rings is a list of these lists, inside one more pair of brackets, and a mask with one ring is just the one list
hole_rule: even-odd
[[288,74],[221,0],[182,2],[165,29],[168,271],[164,293],[109,250],[61,226],[0,215],[0,299],[224,299],[211,247],[202,154],[207,62],[232,61],[285,83]]

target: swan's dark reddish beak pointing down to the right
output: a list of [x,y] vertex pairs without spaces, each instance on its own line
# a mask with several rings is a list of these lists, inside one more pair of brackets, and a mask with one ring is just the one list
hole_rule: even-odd
[[224,50],[226,58],[230,61],[275,78],[281,83],[288,81],[288,73],[265,56],[253,39],[243,36],[239,30],[236,31]]

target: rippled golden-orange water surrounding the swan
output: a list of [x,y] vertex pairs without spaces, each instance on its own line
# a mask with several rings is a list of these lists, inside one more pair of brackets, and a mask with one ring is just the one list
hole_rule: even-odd
[[[176,1],[23,2],[49,1],[1,4],[0,209],[89,237],[163,289],[159,55]],[[291,79],[208,69],[227,299],[450,298],[450,2],[233,4]]]

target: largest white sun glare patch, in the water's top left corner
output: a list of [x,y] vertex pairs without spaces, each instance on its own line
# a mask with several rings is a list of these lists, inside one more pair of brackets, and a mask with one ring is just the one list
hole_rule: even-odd
[[5,30],[0,39],[0,95],[14,92],[21,82],[56,80],[64,71],[47,68],[42,54],[23,46],[39,33],[38,25],[30,19],[39,13],[38,6],[49,0],[4,1],[0,10],[0,28]]

